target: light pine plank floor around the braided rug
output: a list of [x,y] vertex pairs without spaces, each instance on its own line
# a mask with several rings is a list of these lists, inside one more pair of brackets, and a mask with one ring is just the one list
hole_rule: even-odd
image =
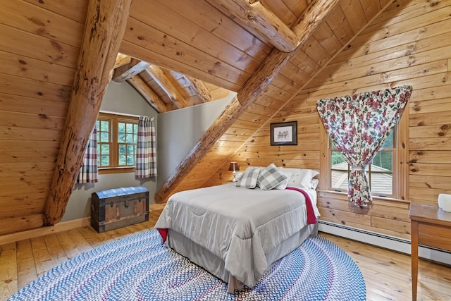
[[[149,221],[97,233],[90,226],[0,245],[0,300],[42,276],[52,267],[95,247],[152,228],[161,211]],[[410,256],[320,233],[347,252],[366,281],[367,300],[412,300]],[[451,300],[451,267],[420,260],[418,300]]]

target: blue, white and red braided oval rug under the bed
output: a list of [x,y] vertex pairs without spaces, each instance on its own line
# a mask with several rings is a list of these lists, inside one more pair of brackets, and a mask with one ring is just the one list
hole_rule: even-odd
[[254,288],[227,284],[161,245],[158,231],[123,238],[80,254],[9,300],[365,300],[354,261],[332,242],[308,238],[280,259]]

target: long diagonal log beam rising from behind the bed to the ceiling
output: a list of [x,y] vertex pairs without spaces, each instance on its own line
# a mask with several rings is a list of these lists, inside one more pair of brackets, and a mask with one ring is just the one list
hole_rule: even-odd
[[[333,10],[340,0],[317,0],[307,8],[307,15],[303,16],[295,27],[305,28],[301,41],[307,41],[314,34],[316,28],[326,18],[328,13]],[[299,44],[298,47],[302,46]],[[194,146],[189,154],[175,168],[175,171],[168,177],[165,183],[155,194],[155,202],[166,202],[171,192],[185,176],[202,159],[216,141],[233,125],[236,118],[249,107],[261,95],[273,78],[278,75],[285,64],[295,55],[295,51],[283,52],[273,49],[266,59],[260,64],[259,68],[253,73],[252,77],[237,92],[237,97],[226,106],[223,113],[214,121],[208,130],[202,135],[199,142]]]

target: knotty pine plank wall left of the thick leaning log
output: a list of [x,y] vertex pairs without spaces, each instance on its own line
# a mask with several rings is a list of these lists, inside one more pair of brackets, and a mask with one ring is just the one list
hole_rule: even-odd
[[0,235],[43,223],[87,11],[65,2],[0,1]]

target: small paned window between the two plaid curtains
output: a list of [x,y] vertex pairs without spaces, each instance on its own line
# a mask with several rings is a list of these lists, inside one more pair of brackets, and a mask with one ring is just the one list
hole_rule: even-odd
[[135,168],[138,118],[100,113],[97,118],[99,172]]

